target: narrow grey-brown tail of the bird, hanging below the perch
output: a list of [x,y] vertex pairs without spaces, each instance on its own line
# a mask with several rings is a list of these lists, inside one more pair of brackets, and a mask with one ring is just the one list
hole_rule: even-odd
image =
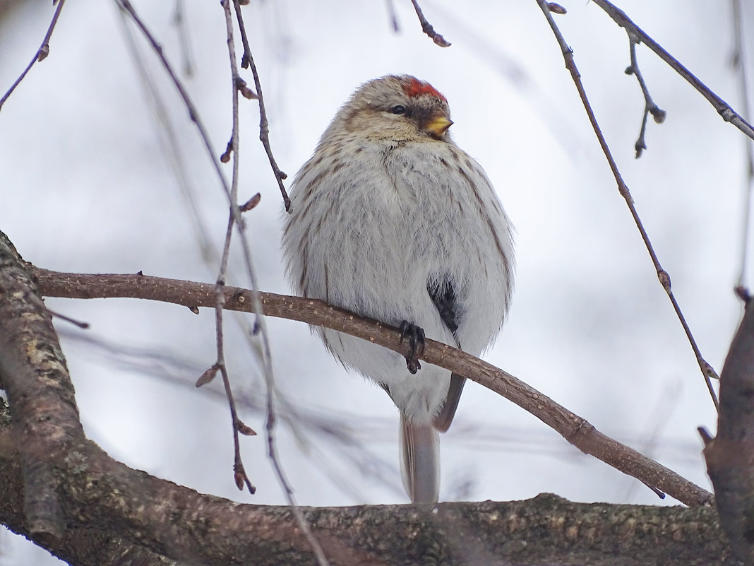
[[428,424],[400,416],[400,469],[412,503],[437,503],[440,495],[440,438]]

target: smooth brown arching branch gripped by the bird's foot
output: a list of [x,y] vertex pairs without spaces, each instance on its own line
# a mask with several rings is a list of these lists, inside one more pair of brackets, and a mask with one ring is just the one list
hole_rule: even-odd
[[[81,275],[51,272],[29,266],[41,294],[48,297],[78,299],[131,297],[160,300],[196,309],[215,305],[214,285],[150,277],[148,275]],[[378,321],[362,318],[351,312],[329,306],[320,300],[260,293],[265,314],[289,318],[342,331],[369,340],[402,355],[408,346],[400,344],[400,333]],[[225,289],[225,308],[251,311],[249,291]],[[573,414],[536,389],[505,371],[461,350],[434,340],[427,340],[422,360],[468,377],[529,411],[559,432],[586,454],[599,458],[615,469],[632,475],[653,488],[675,497],[689,506],[709,505],[712,494],[682,478],[670,469],[649,460],[637,451],[599,432],[587,420]]]

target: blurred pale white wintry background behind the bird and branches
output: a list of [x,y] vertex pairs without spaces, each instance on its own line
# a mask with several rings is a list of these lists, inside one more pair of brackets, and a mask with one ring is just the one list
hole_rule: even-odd
[[[732,288],[741,246],[744,141],[706,100],[639,45],[639,65],[664,125],[650,123],[634,159],[644,100],[626,33],[596,5],[557,16],[587,94],[703,355],[718,371],[740,317]],[[134,2],[181,69],[175,2]],[[559,48],[535,2],[422,2],[452,46],[421,33],[410,2],[252,0],[244,8],[270,120],[290,179],[336,109],[361,82],[411,73],[450,101],[459,146],[486,168],[517,229],[510,318],[485,358],[602,432],[710,488],[696,427],[716,429],[697,362],[627,207],[618,195]],[[621,8],[706,85],[740,107],[731,71],[728,2],[633,0]],[[48,27],[50,2],[20,2],[0,20],[0,92]],[[185,2],[195,64],[181,75],[216,153],[231,132],[225,20],[219,2]],[[752,28],[754,14],[746,14]],[[137,36],[167,100],[201,222],[216,246],[227,205],[185,107]],[[240,51],[240,38],[237,48]],[[749,69],[750,70],[750,69]],[[242,75],[252,85],[248,71]],[[242,100],[241,201],[263,291],[288,293],[280,263],[282,203],[258,138],[256,101]],[[212,282],[197,223],[112,2],[70,2],[39,63],[0,112],[0,229],[26,260],[68,272],[136,272]],[[227,167],[228,177],[230,167]],[[233,261],[241,267],[238,245]],[[241,269],[235,269],[241,273]],[[749,280],[750,281],[750,280]],[[244,279],[231,281],[247,285]],[[139,300],[48,300],[91,324],[57,321],[87,435],[130,466],[247,503],[284,503],[263,436],[241,438],[257,493],[236,490],[230,417],[219,383],[193,383],[214,361],[213,312]],[[249,319],[250,320],[250,319]],[[305,325],[268,319],[280,392],[299,424],[277,429],[303,505],[403,503],[397,411],[381,389],[347,374]],[[234,387],[257,431],[259,365],[227,318]],[[283,409],[280,409],[283,411]],[[442,441],[441,500],[662,502],[642,484],[582,455],[535,417],[469,383]],[[0,564],[57,561],[8,531]]]

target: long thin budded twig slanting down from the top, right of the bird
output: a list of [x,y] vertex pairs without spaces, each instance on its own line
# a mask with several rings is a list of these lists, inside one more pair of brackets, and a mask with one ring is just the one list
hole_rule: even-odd
[[[598,0],[594,1],[598,2]],[[537,2],[539,7],[541,8],[544,17],[547,19],[547,23],[550,24],[550,29],[553,30],[553,34],[555,35],[558,45],[560,46],[560,51],[562,52],[563,59],[566,61],[566,69],[569,69],[569,72],[571,73],[571,78],[573,79],[574,85],[576,86],[579,97],[581,97],[581,103],[584,105],[584,110],[587,111],[589,122],[591,123],[594,134],[599,141],[599,146],[602,148],[602,152],[605,154],[605,159],[607,159],[608,161],[608,165],[610,166],[613,177],[615,177],[615,183],[618,184],[618,192],[621,193],[621,196],[626,201],[626,205],[628,206],[631,216],[633,217],[633,221],[634,223],[636,223],[636,228],[639,229],[639,233],[642,235],[644,245],[647,248],[649,257],[651,257],[654,269],[655,271],[657,271],[657,278],[660,280],[661,285],[667,293],[667,296],[670,299],[670,303],[673,304],[673,310],[676,311],[676,316],[678,316],[683,330],[686,333],[688,343],[691,344],[691,349],[694,350],[694,355],[696,355],[697,363],[699,364],[699,369],[702,372],[702,376],[704,377],[704,382],[706,383],[707,389],[710,392],[710,397],[715,404],[715,408],[719,409],[717,395],[710,380],[711,377],[715,379],[719,379],[719,377],[713,367],[708,364],[702,357],[699,346],[697,346],[696,340],[694,340],[694,335],[691,334],[691,329],[688,328],[688,323],[686,322],[685,316],[683,315],[681,307],[679,306],[678,301],[676,301],[676,297],[673,294],[673,289],[670,285],[670,275],[668,275],[668,272],[662,268],[660,260],[657,259],[657,254],[654,252],[654,248],[652,247],[651,241],[649,240],[649,236],[647,235],[647,232],[644,228],[644,224],[642,223],[641,218],[639,218],[639,213],[636,211],[636,206],[633,204],[633,198],[631,197],[631,193],[628,190],[628,186],[623,180],[621,172],[618,171],[618,164],[615,162],[615,159],[610,152],[610,148],[608,147],[608,143],[605,141],[605,137],[602,135],[602,130],[599,128],[597,118],[594,115],[592,106],[589,103],[589,98],[587,97],[587,91],[584,90],[584,83],[581,82],[581,74],[578,72],[578,68],[576,67],[576,63],[573,58],[573,51],[569,47],[568,43],[566,43],[566,39],[563,38],[560,29],[555,23],[555,20],[553,20],[552,14],[550,14],[550,10],[547,8],[546,0],[535,0],[535,2]],[[604,2],[604,0],[599,0],[599,2]]]

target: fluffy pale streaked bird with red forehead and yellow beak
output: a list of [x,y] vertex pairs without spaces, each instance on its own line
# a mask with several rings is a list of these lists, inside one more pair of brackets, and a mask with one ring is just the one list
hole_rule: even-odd
[[400,327],[412,355],[326,328],[325,346],[374,380],[400,411],[403,486],[440,492],[437,432],[465,378],[421,366],[425,337],[480,353],[513,291],[513,228],[477,163],[450,139],[450,109],[409,75],[366,82],[336,114],[291,189],[287,275],[303,297]]

